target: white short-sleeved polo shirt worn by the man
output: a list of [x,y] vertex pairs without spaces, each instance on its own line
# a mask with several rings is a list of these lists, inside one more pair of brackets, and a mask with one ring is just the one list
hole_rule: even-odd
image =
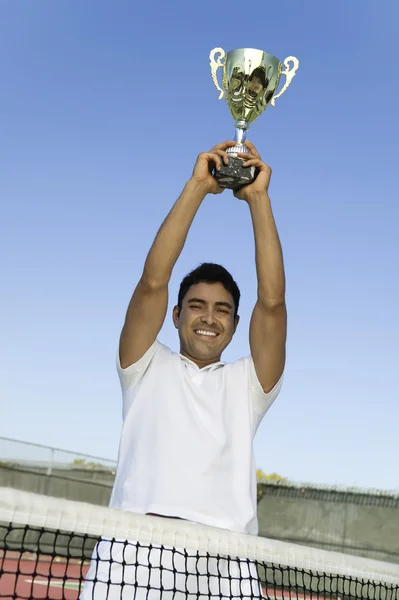
[[112,508],[258,533],[253,438],[265,394],[253,361],[200,369],[155,341],[118,373],[123,428]]

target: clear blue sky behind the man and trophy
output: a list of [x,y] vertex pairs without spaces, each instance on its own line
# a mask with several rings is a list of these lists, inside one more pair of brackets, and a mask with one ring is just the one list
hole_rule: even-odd
[[[284,389],[258,466],[399,488],[396,0],[0,4],[0,435],[116,457],[119,331],[198,152],[232,136],[208,55],[255,47],[300,69],[249,138],[272,166],[285,256]],[[209,197],[171,284],[202,261],[242,290],[225,354],[248,353],[248,208]],[[160,339],[178,348],[168,317]]]

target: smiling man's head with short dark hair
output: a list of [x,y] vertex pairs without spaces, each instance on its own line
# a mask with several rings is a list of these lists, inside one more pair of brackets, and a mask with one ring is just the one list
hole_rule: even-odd
[[173,322],[180,352],[203,367],[220,360],[238,325],[240,290],[222,266],[203,263],[180,284]]

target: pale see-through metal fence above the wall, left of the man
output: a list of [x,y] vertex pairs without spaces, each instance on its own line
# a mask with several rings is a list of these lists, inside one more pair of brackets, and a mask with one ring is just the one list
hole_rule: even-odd
[[111,476],[116,472],[115,460],[7,437],[0,437],[0,465],[49,476],[60,472],[79,473],[80,479],[85,478],[85,473],[92,479],[96,472]]

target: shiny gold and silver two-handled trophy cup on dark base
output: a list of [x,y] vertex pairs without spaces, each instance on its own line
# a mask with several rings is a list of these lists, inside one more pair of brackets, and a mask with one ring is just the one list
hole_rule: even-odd
[[[299,67],[299,61],[289,56],[284,61],[283,70],[278,58],[253,48],[232,50],[227,54],[222,48],[214,48],[209,59],[213,83],[220,92],[219,100],[225,97],[235,121],[236,142],[235,146],[227,149],[229,164],[223,164],[214,176],[220,186],[237,190],[255,179],[255,168],[243,167],[243,159],[237,157],[237,152],[249,152],[244,144],[247,130],[267,106],[274,106],[277,98],[285,92]],[[223,68],[223,88],[217,79],[219,67]],[[285,75],[285,83],[275,95],[281,75]]]

